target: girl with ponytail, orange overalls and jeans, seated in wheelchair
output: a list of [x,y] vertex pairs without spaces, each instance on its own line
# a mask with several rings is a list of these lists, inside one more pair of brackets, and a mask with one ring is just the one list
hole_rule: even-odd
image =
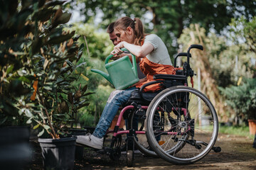
[[[117,59],[125,47],[134,54],[137,61],[140,60],[140,68],[146,75],[137,84],[124,90],[112,91],[107,100],[104,111],[100,117],[95,131],[91,134],[78,136],[77,143],[95,149],[102,149],[104,136],[109,128],[114,115],[117,114],[119,107],[127,103],[132,91],[140,88],[149,81],[154,81],[155,74],[175,74],[171,59],[164,42],[155,34],[146,35],[142,21],[139,18],[122,17],[114,23],[114,33],[117,35],[118,45],[114,47],[112,55]],[[147,86],[144,91],[158,91],[161,89],[159,84]]]

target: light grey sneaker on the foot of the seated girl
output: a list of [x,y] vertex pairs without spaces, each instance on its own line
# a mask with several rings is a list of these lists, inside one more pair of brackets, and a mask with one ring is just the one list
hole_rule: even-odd
[[78,139],[76,142],[78,145],[86,145],[95,149],[102,149],[103,147],[103,137],[100,139],[99,137],[95,137],[90,133],[87,133],[87,135],[78,135],[77,137]]

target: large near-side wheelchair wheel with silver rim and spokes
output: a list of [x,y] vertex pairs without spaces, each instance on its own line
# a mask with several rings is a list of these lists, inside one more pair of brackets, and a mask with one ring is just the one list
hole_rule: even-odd
[[193,164],[210,152],[218,136],[218,116],[209,99],[187,86],[161,91],[146,111],[146,138],[162,159]]

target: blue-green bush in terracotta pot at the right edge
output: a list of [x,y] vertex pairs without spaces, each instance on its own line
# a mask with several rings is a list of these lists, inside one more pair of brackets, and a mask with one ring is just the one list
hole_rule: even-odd
[[[240,86],[220,88],[228,106],[233,108],[238,118],[247,120],[251,127],[256,120],[256,79],[245,79]],[[249,128],[250,128],[249,127]],[[256,128],[256,127],[255,127]],[[253,131],[253,132],[252,132]],[[255,130],[250,129],[251,134]],[[252,134],[255,135],[255,134]]]

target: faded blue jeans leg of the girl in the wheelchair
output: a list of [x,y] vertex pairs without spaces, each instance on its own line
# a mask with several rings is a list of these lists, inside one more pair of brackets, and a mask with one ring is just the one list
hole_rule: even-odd
[[109,128],[112,120],[114,119],[114,115],[117,114],[119,106],[127,103],[128,99],[132,94],[132,91],[134,91],[135,89],[135,87],[132,87],[122,91],[112,91],[112,93],[110,94],[110,98],[107,100],[107,104],[102,112],[102,115],[100,116],[100,120],[97,123],[95,131],[92,135],[99,138],[105,136],[107,129]]

